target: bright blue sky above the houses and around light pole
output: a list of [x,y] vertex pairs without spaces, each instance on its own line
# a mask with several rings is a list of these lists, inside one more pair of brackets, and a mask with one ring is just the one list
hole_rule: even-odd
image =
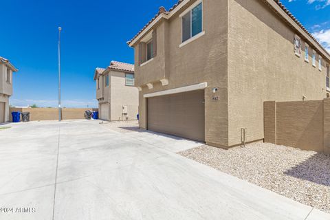
[[[214,0],[215,1],[215,0]],[[110,61],[133,63],[126,45],[158,11],[177,0],[10,0],[1,2],[0,56],[19,69],[12,105],[56,107],[58,26],[63,28],[62,102],[64,107],[97,107],[96,67]],[[330,50],[330,0],[283,0]]]

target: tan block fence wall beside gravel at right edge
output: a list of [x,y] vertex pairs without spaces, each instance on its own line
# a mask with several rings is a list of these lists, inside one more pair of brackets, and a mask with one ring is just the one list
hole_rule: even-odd
[[330,153],[329,99],[270,101],[264,107],[265,142]]

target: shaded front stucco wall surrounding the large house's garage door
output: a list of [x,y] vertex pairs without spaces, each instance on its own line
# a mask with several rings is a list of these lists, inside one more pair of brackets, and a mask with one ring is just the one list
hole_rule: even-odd
[[[140,128],[146,129],[147,126],[144,94],[208,83],[205,89],[206,143],[228,145],[227,3],[227,0],[203,1],[205,35],[181,48],[179,14],[189,5],[169,21],[161,21],[157,25],[157,56],[143,67],[139,67],[138,45],[135,45],[135,85],[153,83],[162,76],[169,80],[166,86],[154,83],[153,89],[142,86],[139,95]],[[212,94],[212,87],[218,88],[217,94]],[[219,96],[219,101],[212,101],[212,96]]]

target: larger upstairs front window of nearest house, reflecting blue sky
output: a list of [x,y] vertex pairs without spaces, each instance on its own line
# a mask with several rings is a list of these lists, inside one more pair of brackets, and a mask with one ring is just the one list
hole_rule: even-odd
[[199,3],[182,17],[182,43],[201,33],[202,30],[203,4]]

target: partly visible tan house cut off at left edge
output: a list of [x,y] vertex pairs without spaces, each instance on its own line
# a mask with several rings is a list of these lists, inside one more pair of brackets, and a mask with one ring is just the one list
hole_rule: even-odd
[[9,98],[12,96],[12,72],[18,70],[0,56],[0,123],[9,121]]

